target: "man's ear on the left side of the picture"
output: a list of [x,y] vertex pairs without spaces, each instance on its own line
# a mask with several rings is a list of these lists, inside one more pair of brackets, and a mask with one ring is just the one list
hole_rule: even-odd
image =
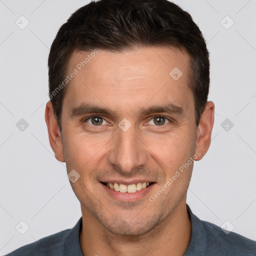
[[44,117],[47,124],[50,146],[54,151],[56,159],[61,162],[64,162],[65,158],[63,154],[61,134],[60,134],[58,122],[55,118],[53,107],[50,101],[46,103]]

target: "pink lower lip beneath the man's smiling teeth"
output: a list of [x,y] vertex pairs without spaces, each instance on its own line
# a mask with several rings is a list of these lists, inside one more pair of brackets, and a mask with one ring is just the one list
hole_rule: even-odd
[[114,199],[118,201],[137,201],[143,198],[149,191],[152,189],[152,187],[156,183],[152,183],[151,185],[147,186],[146,188],[142,188],[140,191],[136,191],[134,193],[122,193],[122,192],[117,192],[114,189],[109,188],[108,186],[102,184],[100,182],[101,186],[103,186],[103,189]]

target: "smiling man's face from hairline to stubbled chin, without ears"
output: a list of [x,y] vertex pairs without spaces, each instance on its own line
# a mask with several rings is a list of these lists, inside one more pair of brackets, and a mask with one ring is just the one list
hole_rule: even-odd
[[[99,50],[79,70],[77,64],[88,54],[78,51],[70,58],[67,73],[73,68],[78,73],[67,85],[62,107],[64,159],[68,172],[74,169],[80,175],[71,185],[82,214],[102,228],[143,234],[185,201],[193,166],[187,162],[195,154],[197,128],[188,88],[189,56],[166,47]],[[178,69],[169,74],[175,67],[181,76]],[[86,112],[85,104],[108,112]],[[167,106],[169,112],[144,111]],[[179,171],[185,163],[189,166]],[[180,175],[173,180],[177,170]],[[106,185],[114,182],[122,184],[115,184],[115,190],[128,187],[131,192]],[[152,184],[141,189],[144,182]]]

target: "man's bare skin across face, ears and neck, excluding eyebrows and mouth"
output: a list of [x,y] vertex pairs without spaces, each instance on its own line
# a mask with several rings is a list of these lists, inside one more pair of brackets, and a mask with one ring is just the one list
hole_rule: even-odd
[[[67,73],[89,53],[73,52]],[[62,134],[47,102],[45,120],[55,157],[66,162],[67,172],[75,169],[80,175],[70,184],[81,203],[83,255],[185,252],[191,233],[185,203],[193,162],[158,198],[148,198],[196,152],[200,160],[210,144],[214,104],[207,102],[197,127],[188,65],[186,51],[173,47],[118,53],[99,49],[67,85]],[[174,67],[182,71],[177,80],[169,75]],[[103,118],[100,125],[95,118],[86,119],[94,112],[71,116],[71,109],[82,103],[108,107],[116,115],[97,114]],[[142,107],[168,103],[182,107],[183,113],[136,114]],[[167,118],[161,125],[158,115]],[[123,118],[131,125],[126,131],[118,126]],[[100,183],[106,180],[155,183],[139,200],[122,201],[106,192]]]

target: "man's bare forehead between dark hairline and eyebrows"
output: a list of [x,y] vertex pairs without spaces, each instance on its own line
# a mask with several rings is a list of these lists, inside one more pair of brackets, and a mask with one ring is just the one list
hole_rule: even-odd
[[[189,107],[189,55],[184,49],[148,47],[112,52],[74,51],[67,74],[76,74],[64,100],[70,107],[84,102],[136,109],[159,100]],[[150,102],[149,102],[150,101]]]

